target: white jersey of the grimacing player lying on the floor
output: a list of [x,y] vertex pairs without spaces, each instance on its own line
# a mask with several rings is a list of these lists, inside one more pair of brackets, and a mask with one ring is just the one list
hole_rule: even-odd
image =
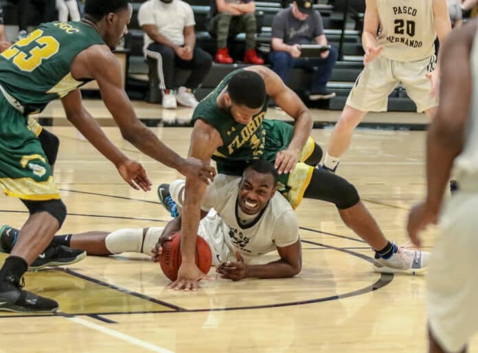
[[[218,174],[209,184],[201,207],[207,211],[214,208],[228,229],[222,229],[224,241],[237,249],[244,262],[287,247],[299,239],[297,216],[286,198],[276,192],[269,204],[249,225],[240,225],[236,213],[240,177]],[[174,201],[181,204],[181,189],[185,181],[176,180],[170,185]],[[220,228],[218,228],[219,230]],[[234,252],[233,252],[234,253]]]

